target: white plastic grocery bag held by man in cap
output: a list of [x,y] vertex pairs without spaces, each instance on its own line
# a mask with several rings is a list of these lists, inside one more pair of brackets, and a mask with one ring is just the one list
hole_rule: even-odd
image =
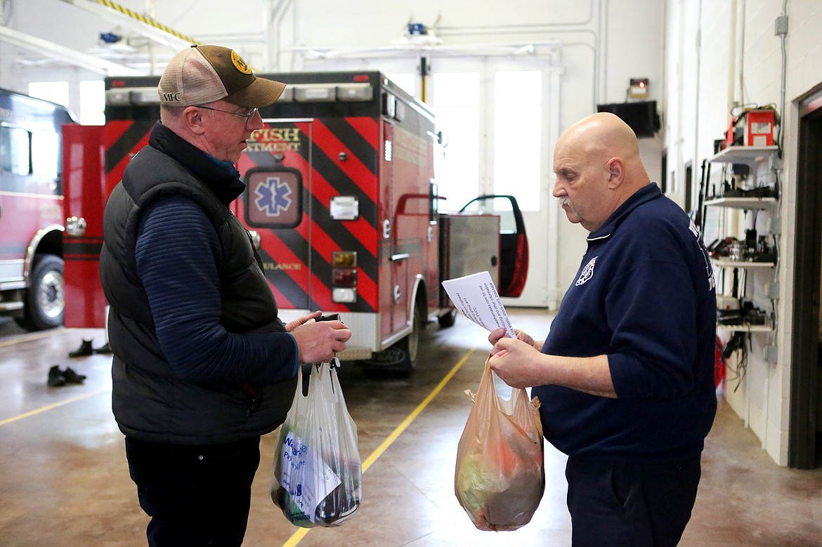
[[271,500],[303,528],[339,526],[363,497],[357,426],[339,387],[339,361],[332,362],[312,366],[307,395],[300,367],[274,456]]

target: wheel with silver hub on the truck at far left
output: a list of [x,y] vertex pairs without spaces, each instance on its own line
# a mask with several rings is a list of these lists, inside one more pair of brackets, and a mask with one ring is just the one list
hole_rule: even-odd
[[31,284],[25,291],[24,315],[16,319],[23,329],[46,330],[62,325],[66,309],[62,258],[36,255],[31,269]]

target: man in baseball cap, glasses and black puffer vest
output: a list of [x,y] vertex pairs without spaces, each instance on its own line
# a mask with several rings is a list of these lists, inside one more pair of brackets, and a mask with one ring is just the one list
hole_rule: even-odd
[[232,49],[195,45],[159,80],[160,121],[104,214],[112,407],[151,546],[241,545],[260,437],[284,421],[299,363],[351,332],[316,311],[289,324],[229,210],[234,167],[285,85]]

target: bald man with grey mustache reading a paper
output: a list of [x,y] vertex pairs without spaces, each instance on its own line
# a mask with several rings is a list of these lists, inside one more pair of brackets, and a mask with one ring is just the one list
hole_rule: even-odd
[[492,370],[568,455],[575,547],[677,545],[716,414],[716,290],[700,233],[611,113],[570,126],[553,195],[588,249],[545,340],[496,329]]

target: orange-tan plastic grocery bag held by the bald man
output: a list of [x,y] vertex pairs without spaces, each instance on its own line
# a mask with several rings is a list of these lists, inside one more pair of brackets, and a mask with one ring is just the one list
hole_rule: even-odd
[[459,438],[454,490],[479,530],[516,530],[528,524],[545,491],[539,400],[524,389],[496,394],[485,363],[479,391]]

